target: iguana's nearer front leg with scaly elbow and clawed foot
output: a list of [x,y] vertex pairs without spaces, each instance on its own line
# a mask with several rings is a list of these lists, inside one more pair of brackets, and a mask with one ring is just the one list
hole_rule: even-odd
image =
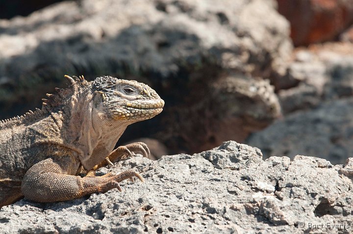
[[78,167],[79,162],[70,156],[52,157],[34,164],[22,181],[22,194],[37,202],[66,201],[112,188],[121,190],[119,182],[133,176],[143,181],[133,170],[118,175],[75,176]]

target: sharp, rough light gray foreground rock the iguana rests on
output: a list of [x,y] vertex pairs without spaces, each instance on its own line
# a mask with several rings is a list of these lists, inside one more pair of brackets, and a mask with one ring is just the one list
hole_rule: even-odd
[[224,142],[194,155],[135,157],[146,183],[67,202],[21,200],[0,210],[1,233],[343,233],[353,229],[353,159],[271,157]]

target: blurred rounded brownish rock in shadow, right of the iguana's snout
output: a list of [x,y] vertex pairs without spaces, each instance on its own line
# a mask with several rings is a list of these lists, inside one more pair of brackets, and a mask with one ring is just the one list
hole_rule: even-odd
[[185,105],[173,109],[168,131],[158,137],[168,138],[170,148],[200,152],[229,139],[241,142],[281,115],[268,80],[230,73],[200,92],[203,95],[190,94]]

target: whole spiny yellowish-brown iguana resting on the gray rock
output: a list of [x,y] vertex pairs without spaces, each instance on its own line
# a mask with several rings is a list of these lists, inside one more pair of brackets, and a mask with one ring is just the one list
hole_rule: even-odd
[[0,121],[0,208],[23,196],[64,201],[112,188],[121,191],[119,182],[134,176],[143,181],[134,170],[103,176],[95,176],[95,170],[133,152],[148,157],[142,142],[113,149],[127,125],[158,115],[164,101],[133,80],[65,77],[69,87],[47,94],[42,109]]

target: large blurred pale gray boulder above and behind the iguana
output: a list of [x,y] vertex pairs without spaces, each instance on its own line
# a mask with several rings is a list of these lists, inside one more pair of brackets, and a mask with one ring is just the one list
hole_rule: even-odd
[[37,96],[30,88],[53,87],[63,73],[144,73],[156,83],[180,67],[200,70],[204,60],[269,78],[284,72],[292,49],[275,7],[274,0],[83,0],[0,20],[0,77],[15,88],[0,87],[0,99]]

